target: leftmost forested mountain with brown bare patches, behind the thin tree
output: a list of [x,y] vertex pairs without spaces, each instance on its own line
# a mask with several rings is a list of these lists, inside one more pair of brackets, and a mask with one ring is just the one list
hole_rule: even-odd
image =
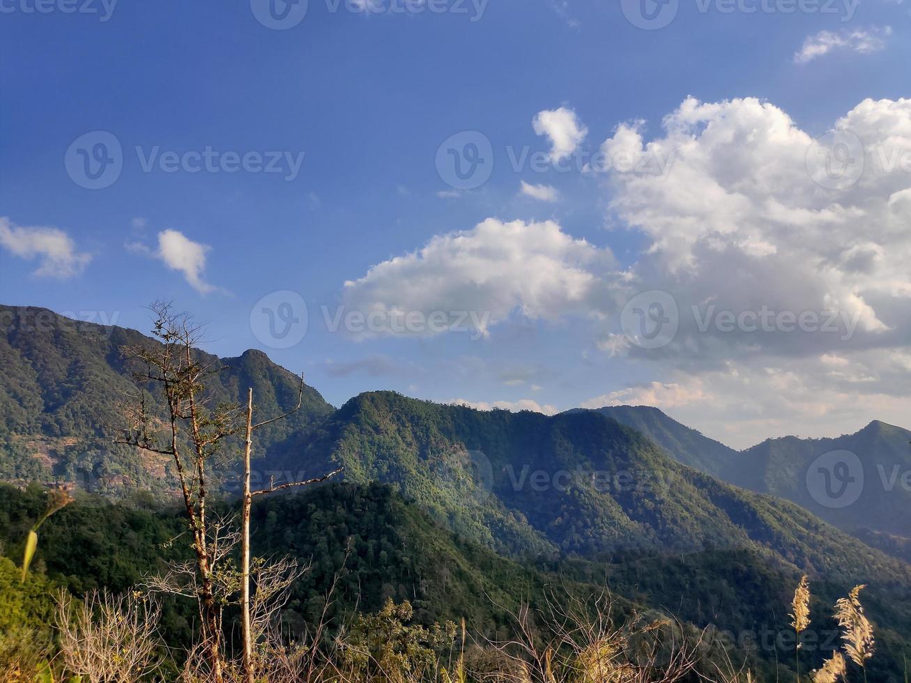
[[[120,348],[156,342],[38,308],[0,306],[0,323],[0,478],[74,481],[110,494],[170,485],[166,460],[112,443],[125,426],[123,405],[137,393]],[[218,371],[210,379],[212,403],[245,401],[249,386],[263,418],[297,403],[300,379],[265,353],[200,356]],[[163,415],[158,394],[150,400],[152,413]],[[264,429],[260,447],[269,453],[332,411],[306,387],[302,410]]]

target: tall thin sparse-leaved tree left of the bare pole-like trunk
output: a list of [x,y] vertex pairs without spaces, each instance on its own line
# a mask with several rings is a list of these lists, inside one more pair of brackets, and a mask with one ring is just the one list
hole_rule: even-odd
[[144,366],[136,372],[138,382],[159,386],[168,407],[163,433],[152,426],[146,409],[145,388],[140,387],[138,405],[129,413],[131,424],[118,443],[136,446],[149,453],[167,455],[177,471],[180,493],[187,512],[195,571],[196,598],[200,604],[203,647],[216,683],[222,682],[223,666],[220,607],[215,597],[213,556],[207,504],[210,459],[220,444],[237,433],[240,408],[223,405],[210,408],[205,381],[217,370],[200,361],[196,347],[201,339],[199,324],[188,315],[175,313],[169,303],[155,303],[152,333],[160,344],[140,344],[122,349],[124,356]]

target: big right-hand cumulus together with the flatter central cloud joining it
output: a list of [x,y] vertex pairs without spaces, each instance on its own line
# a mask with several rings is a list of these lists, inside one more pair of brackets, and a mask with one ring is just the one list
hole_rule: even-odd
[[[855,141],[847,155],[844,140]],[[605,359],[650,372],[587,405],[670,407],[716,438],[737,425],[740,445],[797,427],[839,433],[859,405],[906,420],[911,99],[867,99],[814,140],[769,102],[687,98],[657,135],[623,124],[602,151],[670,160],[660,173],[609,164],[600,174],[609,225],[644,242],[629,266],[556,223],[489,219],[375,266],[347,283],[346,300],[364,311],[491,311],[485,331],[515,314],[585,320],[574,329]],[[615,313],[650,291],[670,296],[672,311],[638,314],[672,313],[679,329],[646,349]]]

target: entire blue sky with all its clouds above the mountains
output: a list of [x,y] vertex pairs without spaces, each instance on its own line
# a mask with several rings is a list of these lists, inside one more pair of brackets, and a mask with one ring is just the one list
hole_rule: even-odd
[[[908,7],[643,1],[670,24],[634,25],[631,0],[310,0],[282,30],[259,0],[2,0],[0,301],[146,330],[143,306],[172,299],[209,322],[210,351],[261,348],[337,405],[373,389],[548,412],[653,403],[738,446],[900,422]],[[866,168],[897,167],[814,184],[801,145],[833,127]],[[79,155],[110,139],[97,131],[122,163],[88,189]],[[492,152],[470,189],[438,163],[462,131],[456,145]],[[612,162],[663,150],[675,170],[586,168],[607,140]],[[218,170],[192,172],[207,149]],[[523,150],[548,168],[515,168]],[[261,312],[300,319],[272,295],[287,291],[309,313],[291,346]],[[682,321],[649,349],[620,320],[646,291],[683,317],[711,301],[831,309],[856,333]],[[425,326],[333,332],[323,307],[339,306]],[[433,311],[445,331],[428,331]],[[486,326],[453,331],[460,311]]]

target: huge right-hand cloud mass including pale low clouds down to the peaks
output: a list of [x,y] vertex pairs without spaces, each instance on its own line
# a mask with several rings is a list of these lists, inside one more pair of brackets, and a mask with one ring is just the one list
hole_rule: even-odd
[[[611,167],[607,178],[613,219],[648,240],[627,296],[667,292],[680,327],[648,350],[614,321],[599,348],[662,381],[586,405],[671,408],[739,446],[863,426],[858,405],[906,420],[911,100],[865,100],[814,141],[771,103],[688,98],[659,136],[621,126],[603,149],[673,159],[663,174]],[[844,182],[829,184],[830,171]],[[808,327],[791,324],[802,314]]]

